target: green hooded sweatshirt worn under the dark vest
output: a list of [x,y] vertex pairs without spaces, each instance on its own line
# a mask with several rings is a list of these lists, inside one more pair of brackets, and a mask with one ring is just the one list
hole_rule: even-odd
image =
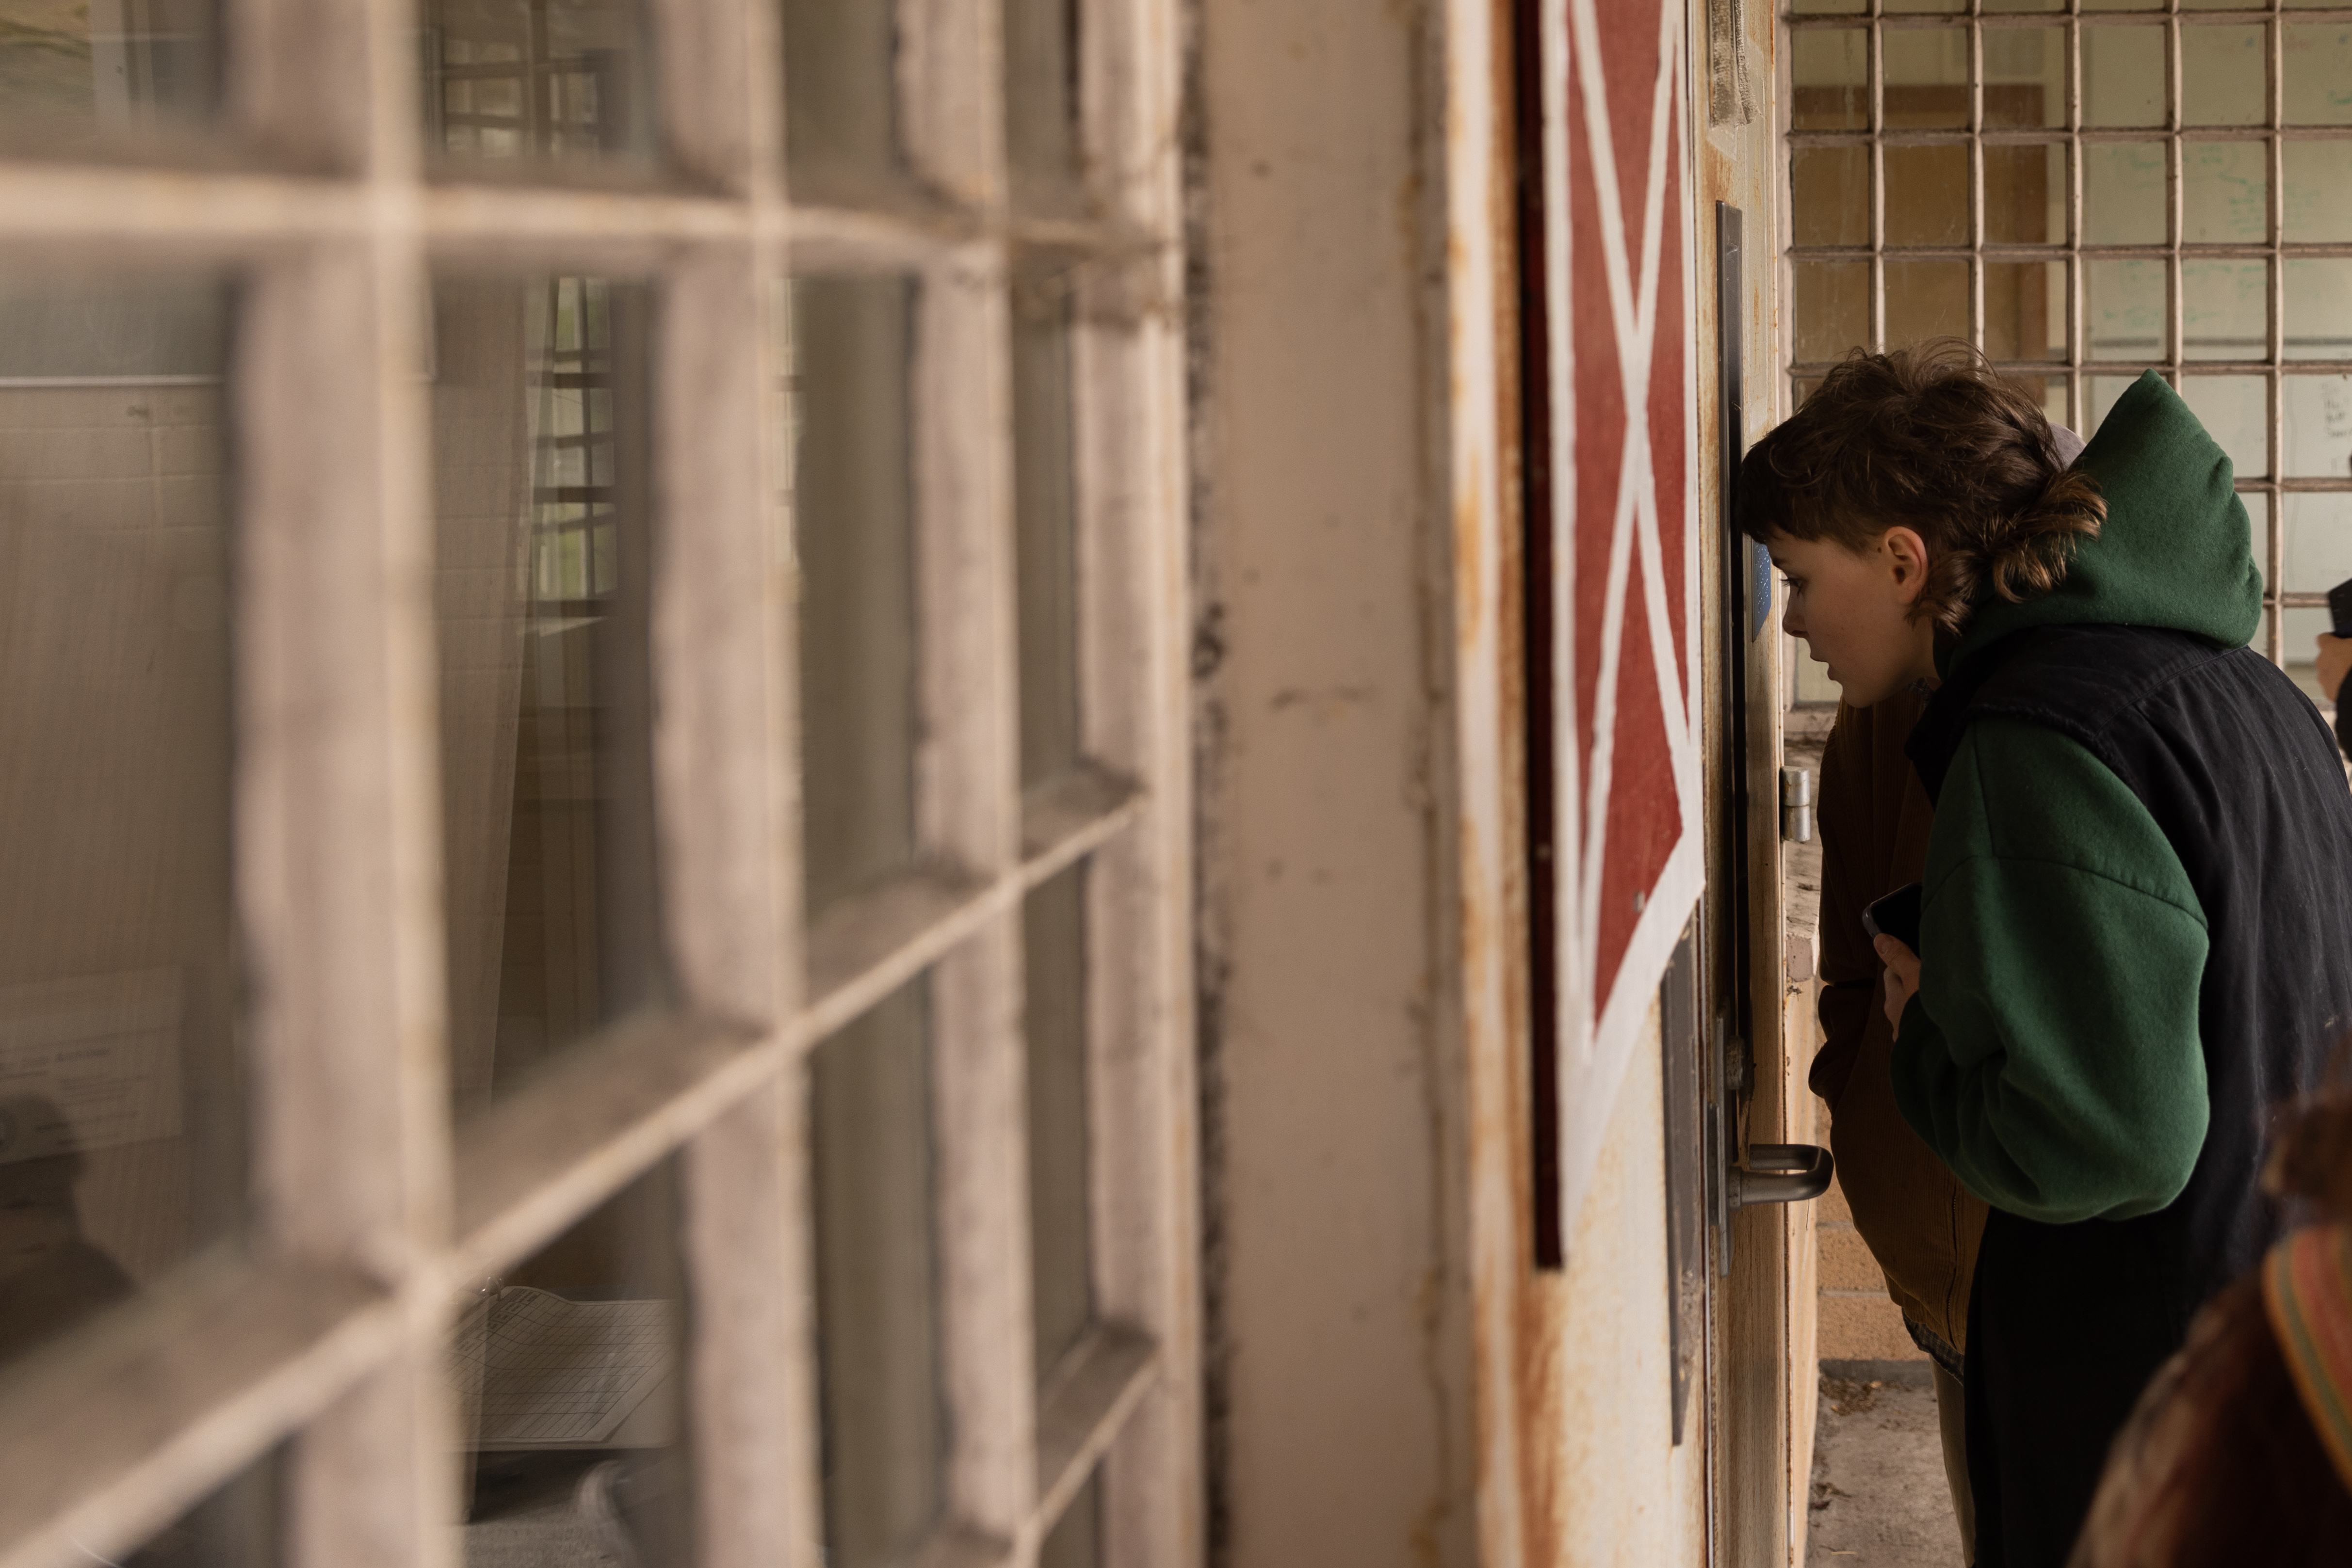
[[[1990,599],[1957,672],[2030,625],[2157,625],[2244,646],[2263,618],[2230,458],[2154,371],[2077,458],[2107,522],[2065,583]],[[1936,802],[1903,1119],[1994,1208],[2053,1225],[2171,1204],[2206,1135],[2206,917],[2147,806],[2053,729],[1980,719]]]

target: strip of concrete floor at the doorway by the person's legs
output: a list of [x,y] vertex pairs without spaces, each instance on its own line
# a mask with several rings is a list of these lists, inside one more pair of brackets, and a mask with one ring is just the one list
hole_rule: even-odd
[[1806,1568],[1957,1568],[1926,1363],[1820,1380]]

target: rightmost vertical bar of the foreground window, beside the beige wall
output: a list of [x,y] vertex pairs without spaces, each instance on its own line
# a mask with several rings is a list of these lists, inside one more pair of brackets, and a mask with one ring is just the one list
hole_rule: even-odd
[[[1157,0],[1084,7],[1082,146],[1105,197],[1178,233],[1181,190],[1150,148],[1176,139],[1176,28]],[[1160,1375],[1103,1458],[1103,1561],[1197,1561],[1200,1314],[1192,1086],[1190,668],[1183,292],[1171,242],[1080,284],[1073,310],[1077,677],[1082,750],[1143,788],[1143,816],[1087,877],[1087,1126],[1096,1319],[1136,1331]],[[1051,1486],[1056,1476],[1040,1476]]]

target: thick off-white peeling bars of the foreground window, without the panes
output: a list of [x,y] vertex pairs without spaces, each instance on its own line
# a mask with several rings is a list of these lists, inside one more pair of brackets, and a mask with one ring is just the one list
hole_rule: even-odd
[[[249,1244],[0,1380],[0,1568],[120,1556],[287,1441],[289,1568],[452,1563],[440,1368],[466,1281],[677,1154],[696,1556],[821,1563],[807,1051],[934,985],[946,1523],[1033,1563],[1101,1462],[1103,1561],[1197,1563],[1190,757],[1174,0],[1084,0],[1089,221],[1007,207],[997,5],[896,0],[920,219],[795,205],[774,0],[649,0],[661,188],[428,183],[414,14],[226,0],[233,167],[0,158],[0,266],[238,275],[235,872],[259,978]],[[1014,256],[1075,268],[1089,764],[1023,797]],[[652,736],[682,1009],[461,1131],[447,1110],[430,454],[442,263],[647,277],[659,327]],[[929,870],[800,919],[797,675],[774,508],[788,273],[920,280],[913,364]],[[1040,1394],[1021,900],[1089,858],[1096,1328]]]

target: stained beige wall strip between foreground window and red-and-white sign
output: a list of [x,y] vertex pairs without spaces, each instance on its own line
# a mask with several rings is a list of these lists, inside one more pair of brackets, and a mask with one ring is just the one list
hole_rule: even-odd
[[1411,0],[1197,9],[1209,1486],[1232,1568],[1475,1561],[1428,26]]

